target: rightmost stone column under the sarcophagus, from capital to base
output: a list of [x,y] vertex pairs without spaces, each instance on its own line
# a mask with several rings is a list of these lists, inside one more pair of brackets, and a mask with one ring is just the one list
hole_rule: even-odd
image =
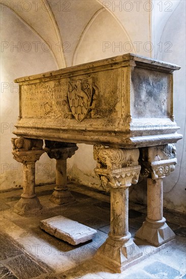
[[173,144],[141,149],[141,175],[147,179],[147,217],[136,237],[154,246],[175,237],[163,217],[163,178],[170,175],[177,162]]

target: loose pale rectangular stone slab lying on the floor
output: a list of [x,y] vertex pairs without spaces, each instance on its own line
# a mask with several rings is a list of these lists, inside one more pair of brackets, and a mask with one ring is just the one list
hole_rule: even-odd
[[40,221],[41,229],[72,245],[92,239],[97,231],[63,216]]

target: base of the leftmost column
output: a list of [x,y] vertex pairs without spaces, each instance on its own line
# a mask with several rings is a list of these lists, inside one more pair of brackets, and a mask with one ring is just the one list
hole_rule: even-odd
[[19,215],[37,215],[42,207],[36,195],[32,198],[21,197],[14,206],[14,212]]

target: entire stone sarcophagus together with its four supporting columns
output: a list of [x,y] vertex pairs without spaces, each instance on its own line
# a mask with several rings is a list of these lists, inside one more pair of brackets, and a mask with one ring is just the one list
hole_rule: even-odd
[[[163,179],[176,164],[182,136],[173,116],[173,72],[179,66],[133,54],[16,79],[19,119],[14,159],[24,164],[19,214],[40,211],[34,190],[35,162],[46,152],[56,160],[50,198],[74,201],[67,187],[67,159],[77,143],[94,145],[95,172],[110,190],[110,233],[96,258],[121,271],[142,256],[128,226],[129,187],[147,178],[147,217],[136,237],[160,246],[174,238],[163,217]],[[45,148],[42,148],[45,140]]]

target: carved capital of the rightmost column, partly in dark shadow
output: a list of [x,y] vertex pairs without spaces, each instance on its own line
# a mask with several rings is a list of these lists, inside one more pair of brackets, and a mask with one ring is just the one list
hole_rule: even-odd
[[140,175],[153,180],[165,178],[177,163],[174,144],[142,148],[140,152]]

